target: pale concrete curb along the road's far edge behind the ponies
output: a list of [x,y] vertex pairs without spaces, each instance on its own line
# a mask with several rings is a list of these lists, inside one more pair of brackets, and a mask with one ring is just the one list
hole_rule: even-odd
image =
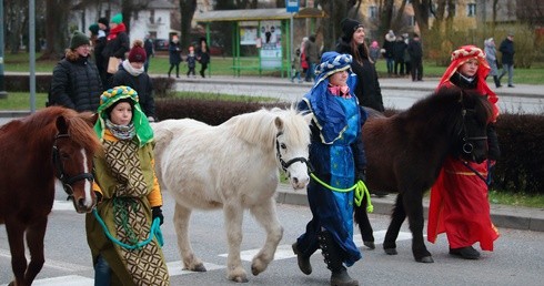
[[[374,206],[373,213],[391,215],[395,198],[395,194],[390,194],[386,197],[372,197],[372,205]],[[276,202],[281,204],[309,206],[305,191],[293,191],[286,184],[280,184],[278,186]],[[423,200],[423,208],[426,219],[429,213],[427,198]],[[544,232],[544,208],[512,207],[491,204],[491,219],[497,227]]]

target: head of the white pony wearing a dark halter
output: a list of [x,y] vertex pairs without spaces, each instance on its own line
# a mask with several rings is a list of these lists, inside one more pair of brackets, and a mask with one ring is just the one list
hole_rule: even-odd
[[298,114],[288,110],[288,116],[275,118],[278,127],[275,149],[282,170],[288,174],[293,188],[304,188],[310,182],[308,161],[310,145],[311,115]]

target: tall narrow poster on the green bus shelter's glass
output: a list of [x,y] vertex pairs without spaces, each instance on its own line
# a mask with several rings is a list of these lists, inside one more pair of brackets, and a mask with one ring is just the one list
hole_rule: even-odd
[[262,21],[260,25],[261,68],[281,69],[282,42],[281,21]]

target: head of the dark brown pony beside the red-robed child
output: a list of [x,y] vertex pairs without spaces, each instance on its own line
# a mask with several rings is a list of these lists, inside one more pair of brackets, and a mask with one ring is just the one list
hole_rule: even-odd
[[459,155],[482,163],[487,159],[487,123],[492,115],[487,99],[477,92],[460,92],[461,126],[459,127]]

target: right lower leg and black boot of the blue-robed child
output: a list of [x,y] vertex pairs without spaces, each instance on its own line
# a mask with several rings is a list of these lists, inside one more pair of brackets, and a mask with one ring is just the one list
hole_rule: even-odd
[[319,235],[321,252],[326,267],[332,272],[331,286],[357,286],[359,282],[350,277],[343,265],[342,249],[328,231]]

